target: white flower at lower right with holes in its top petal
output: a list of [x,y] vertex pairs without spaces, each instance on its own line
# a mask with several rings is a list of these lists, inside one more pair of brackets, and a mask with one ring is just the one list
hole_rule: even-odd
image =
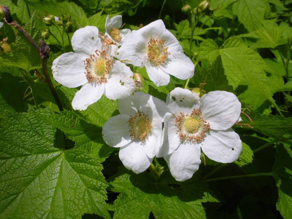
[[239,119],[241,103],[233,93],[212,91],[199,98],[175,88],[166,105],[172,115],[165,117],[164,142],[157,157],[164,157],[176,180],[187,180],[198,170],[201,149],[217,162],[238,159],[241,140],[231,127]]

